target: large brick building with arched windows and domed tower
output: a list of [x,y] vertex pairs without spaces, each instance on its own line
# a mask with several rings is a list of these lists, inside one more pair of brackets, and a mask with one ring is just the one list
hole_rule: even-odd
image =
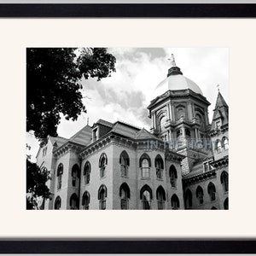
[[210,102],[172,61],[148,106],[150,131],[99,119],[73,137],[48,137],[44,209],[228,209],[229,107]]

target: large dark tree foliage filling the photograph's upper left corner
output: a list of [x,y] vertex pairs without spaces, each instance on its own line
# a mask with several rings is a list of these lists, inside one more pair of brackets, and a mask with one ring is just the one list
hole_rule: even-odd
[[108,77],[115,61],[106,48],[26,49],[26,131],[57,136],[61,113],[75,120],[85,112],[81,79]]

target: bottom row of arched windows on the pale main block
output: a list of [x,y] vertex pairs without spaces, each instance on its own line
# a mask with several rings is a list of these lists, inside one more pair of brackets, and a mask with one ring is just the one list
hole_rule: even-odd
[[[107,187],[102,184],[98,189],[98,201],[99,201],[99,209],[105,210],[107,208],[106,199],[108,196]],[[120,197],[120,208],[122,210],[129,209],[129,200],[131,198],[131,190],[127,183],[122,183],[119,188],[119,197]],[[140,190],[140,200],[142,201],[143,210],[150,210],[152,208],[152,200],[153,200],[153,192],[152,189],[148,185],[144,185]],[[156,189],[156,200],[157,206],[159,210],[165,209],[166,202],[166,191],[162,186],[159,186]],[[76,210],[79,209],[79,197],[75,193],[70,197],[70,209]],[[172,209],[179,208],[179,200],[176,194],[171,197]],[[84,192],[82,197],[82,206],[84,210],[89,210],[90,208],[90,193],[88,191]],[[55,199],[55,210],[59,210],[61,208],[61,197],[57,196]]]

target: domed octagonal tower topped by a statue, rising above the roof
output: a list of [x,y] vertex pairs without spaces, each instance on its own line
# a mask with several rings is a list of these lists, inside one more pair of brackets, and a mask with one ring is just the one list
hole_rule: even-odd
[[210,102],[195,82],[183,76],[173,55],[172,67],[156,87],[155,95],[148,106],[151,131],[165,140],[169,148],[187,156],[182,163],[183,174],[187,174],[195,161],[207,158],[210,153]]

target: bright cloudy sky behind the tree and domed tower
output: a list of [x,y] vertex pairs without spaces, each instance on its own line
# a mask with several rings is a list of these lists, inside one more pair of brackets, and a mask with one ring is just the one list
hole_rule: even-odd
[[[96,79],[82,81],[87,113],[75,122],[61,119],[59,136],[72,137],[87,124],[88,118],[90,125],[98,119],[110,122],[119,119],[149,129],[151,120],[147,107],[157,96],[156,86],[166,79],[172,54],[183,75],[198,84],[212,103],[208,110],[210,120],[218,94],[217,84],[229,104],[227,48],[109,48],[108,51],[116,57],[116,72],[99,82]],[[37,140],[26,133],[26,143],[32,146],[29,154],[35,160],[39,148]]]

